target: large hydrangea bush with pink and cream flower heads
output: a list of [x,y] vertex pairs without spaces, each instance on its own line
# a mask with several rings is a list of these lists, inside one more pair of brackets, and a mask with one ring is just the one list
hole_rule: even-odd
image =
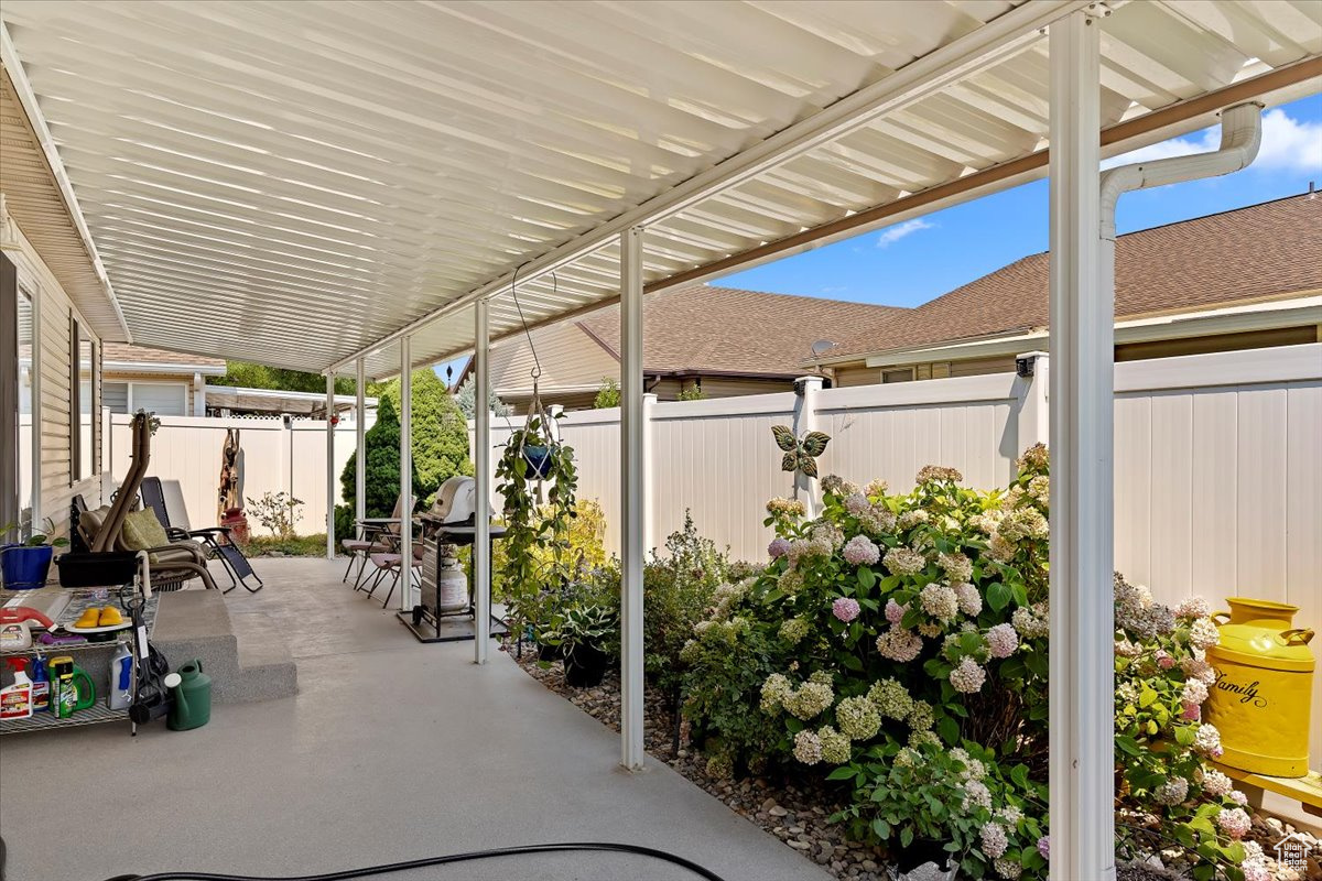
[[[927,466],[892,494],[826,477],[814,519],[772,499],[771,563],[718,589],[682,651],[686,715],[718,775],[821,774],[845,787],[837,819],[859,840],[935,839],[968,877],[1043,878],[1047,450],[1003,491],[961,481]],[[1199,719],[1206,602],[1170,609],[1117,576],[1116,604],[1121,832],[1183,844],[1198,878],[1263,881],[1239,843],[1243,796],[1206,763],[1220,749]]]

